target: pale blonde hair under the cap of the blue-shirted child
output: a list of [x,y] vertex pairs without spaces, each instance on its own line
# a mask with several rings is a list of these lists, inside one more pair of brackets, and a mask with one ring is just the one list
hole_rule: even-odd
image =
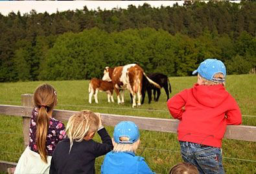
[[[128,141],[130,140],[128,137],[120,137],[119,140],[121,141]],[[136,150],[139,148],[139,143],[141,142],[139,139],[134,142],[133,144],[118,144],[114,140],[113,142],[113,151],[115,152],[121,152],[121,151],[130,151],[130,152],[136,152]]]

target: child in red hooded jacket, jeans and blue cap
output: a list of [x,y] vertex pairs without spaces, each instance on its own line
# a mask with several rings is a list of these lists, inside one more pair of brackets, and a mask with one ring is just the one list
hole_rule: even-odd
[[197,84],[167,102],[172,117],[180,120],[181,155],[200,173],[224,173],[221,147],[226,125],[241,124],[242,115],[224,88],[226,68],[222,61],[206,59],[195,73]]

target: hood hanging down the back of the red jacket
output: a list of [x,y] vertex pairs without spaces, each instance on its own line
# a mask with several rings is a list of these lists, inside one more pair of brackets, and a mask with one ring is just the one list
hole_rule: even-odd
[[199,85],[194,84],[192,94],[196,101],[204,106],[216,108],[219,104],[225,101],[229,93],[225,90],[222,84],[218,85]]

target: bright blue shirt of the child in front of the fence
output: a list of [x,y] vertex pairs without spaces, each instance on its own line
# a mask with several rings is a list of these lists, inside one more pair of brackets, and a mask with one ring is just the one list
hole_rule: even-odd
[[102,174],[142,174],[155,173],[146,164],[143,157],[135,156],[132,152],[107,153],[101,166]]

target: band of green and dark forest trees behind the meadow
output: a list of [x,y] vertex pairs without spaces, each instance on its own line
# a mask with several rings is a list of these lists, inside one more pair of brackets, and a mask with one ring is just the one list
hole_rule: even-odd
[[256,3],[0,14],[0,81],[90,79],[105,66],[191,75],[203,59],[227,73],[256,66]]

